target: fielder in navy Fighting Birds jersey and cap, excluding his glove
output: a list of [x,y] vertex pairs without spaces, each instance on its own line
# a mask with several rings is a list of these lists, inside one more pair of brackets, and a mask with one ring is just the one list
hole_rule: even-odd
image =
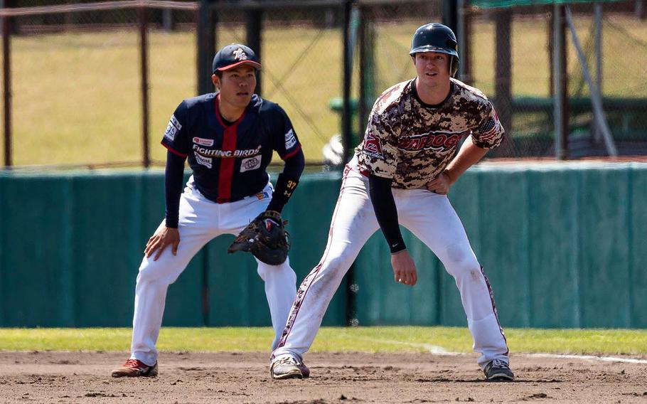
[[[280,213],[299,182],[304,154],[290,119],[279,105],[254,94],[255,53],[232,44],[213,59],[218,92],[184,100],[161,143],[166,154],[166,218],[149,239],[139,267],[131,356],[112,376],[156,376],[155,344],[164,314],[166,290],[191,258],[221,234],[237,235],[251,220]],[[266,168],[277,151],[285,166],[276,188]],[[183,188],[184,162],[193,171]],[[296,294],[296,275],[282,265],[258,261],[276,337]]]

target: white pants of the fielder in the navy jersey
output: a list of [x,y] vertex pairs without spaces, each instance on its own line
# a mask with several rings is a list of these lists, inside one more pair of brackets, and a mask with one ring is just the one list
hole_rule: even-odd
[[[214,203],[192,186],[191,179],[180,199],[180,244],[177,255],[167,247],[154,261],[154,255],[141,261],[135,310],[132,321],[131,358],[139,359],[148,366],[157,361],[155,344],[159,336],[166,290],[188,265],[196,253],[213,238],[221,234],[237,235],[253,218],[265,211],[272,198],[272,184],[267,184],[262,193],[231,203]],[[160,224],[164,226],[164,220]],[[158,228],[158,230],[159,230]],[[222,252],[226,254],[225,251]],[[258,275],[265,283],[265,295],[269,304],[274,328],[272,349],[284,329],[289,309],[296,293],[296,274],[289,260],[282,265],[267,265],[258,261]]]

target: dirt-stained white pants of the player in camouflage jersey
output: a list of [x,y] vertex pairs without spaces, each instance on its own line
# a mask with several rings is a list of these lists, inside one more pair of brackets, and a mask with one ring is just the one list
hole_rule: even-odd
[[[456,280],[474,338],[474,351],[481,353],[479,366],[484,368],[493,359],[507,363],[508,346],[496,317],[489,282],[449,198],[424,189],[393,188],[392,191],[400,224],[422,240]],[[326,251],[296,292],[272,359],[286,354],[301,358],[308,351],[343,276],[378,228],[368,196],[368,178],[347,166]]]

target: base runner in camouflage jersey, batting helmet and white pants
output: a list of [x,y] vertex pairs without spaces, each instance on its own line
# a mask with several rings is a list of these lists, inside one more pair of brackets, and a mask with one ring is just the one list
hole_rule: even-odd
[[309,376],[303,354],[343,275],[378,228],[391,250],[395,281],[416,284],[417,269],[400,234],[403,225],[456,280],[486,378],[513,380],[488,278],[447,198],[451,184],[503,139],[487,97],[453,78],[456,49],[447,26],[419,27],[410,51],[417,77],[390,87],[373,105],[363,142],[343,174],[326,251],[301,283],[272,353],[273,378]]

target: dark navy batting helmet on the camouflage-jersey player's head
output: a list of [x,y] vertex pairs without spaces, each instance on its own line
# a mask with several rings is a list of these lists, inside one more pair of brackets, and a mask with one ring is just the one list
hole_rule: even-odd
[[419,27],[413,34],[409,54],[419,52],[447,53],[450,58],[449,73],[452,77],[459,70],[459,45],[454,31],[441,23],[428,23]]

